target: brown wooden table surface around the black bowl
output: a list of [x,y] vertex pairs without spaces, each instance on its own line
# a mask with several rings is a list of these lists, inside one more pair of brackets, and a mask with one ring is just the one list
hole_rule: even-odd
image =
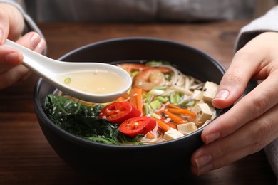
[[[59,58],[79,46],[108,38],[166,38],[205,51],[228,67],[240,28],[249,21],[216,23],[101,24],[42,23],[48,56]],[[0,184],[91,184],[58,157],[36,120],[33,89],[37,77],[0,90]],[[264,152],[249,155],[188,184],[276,184]]]

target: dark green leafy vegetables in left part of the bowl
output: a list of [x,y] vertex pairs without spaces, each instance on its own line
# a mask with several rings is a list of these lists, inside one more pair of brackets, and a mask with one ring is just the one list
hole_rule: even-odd
[[47,95],[44,107],[46,116],[58,127],[77,137],[104,144],[142,144],[136,137],[128,137],[118,130],[118,125],[98,119],[103,105],[91,106],[71,97]]

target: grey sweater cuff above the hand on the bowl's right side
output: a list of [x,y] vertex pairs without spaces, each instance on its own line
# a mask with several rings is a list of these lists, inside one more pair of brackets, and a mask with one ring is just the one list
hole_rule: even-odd
[[254,19],[247,26],[244,26],[235,45],[235,51],[242,48],[252,38],[266,31],[278,31],[278,6],[274,6],[264,16]]

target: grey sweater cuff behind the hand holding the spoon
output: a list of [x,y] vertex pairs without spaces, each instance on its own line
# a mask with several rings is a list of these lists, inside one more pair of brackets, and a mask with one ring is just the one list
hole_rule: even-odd
[[40,28],[38,28],[34,20],[26,13],[24,9],[24,4],[19,4],[16,0],[0,0],[0,3],[8,3],[14,5],[24,16],[24,21],[26,25],[25,31],[36,31],[38,34],[41,35],[42,38],[44,38]]

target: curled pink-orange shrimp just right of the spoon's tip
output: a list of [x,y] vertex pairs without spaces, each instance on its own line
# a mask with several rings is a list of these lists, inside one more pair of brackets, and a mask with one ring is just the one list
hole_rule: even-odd
[[149,91],[155,86],[163,86],[166,83],[164,73],[170,73],[169,68],[145,68],[135,75],[134,85],[142,90]]

